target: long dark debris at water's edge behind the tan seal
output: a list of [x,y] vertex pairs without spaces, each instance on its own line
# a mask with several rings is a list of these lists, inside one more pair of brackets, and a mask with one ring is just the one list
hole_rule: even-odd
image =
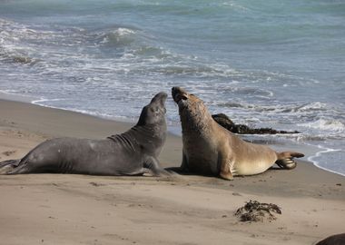
[[212,115],[215,122],[218,122],[222,127],[229,130],[230,132],[239,134],[277,134],[277,133],[299,133],[298,131],[278,131],[271,128],[258,128],[252,129],[244,124],[236,124],[225,114],[219,113]]

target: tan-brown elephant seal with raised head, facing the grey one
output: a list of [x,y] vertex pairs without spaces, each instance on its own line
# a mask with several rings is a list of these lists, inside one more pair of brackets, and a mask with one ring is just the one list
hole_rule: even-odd
[[299,152],[274,152],[267,146],[244,142],[212,119],[197,96],[173,87],[173,100],[179,106],[182,123],[181,171],[219,175],[232,180],[234,175],[258,174],[274,163],[281,168],[296,167]]

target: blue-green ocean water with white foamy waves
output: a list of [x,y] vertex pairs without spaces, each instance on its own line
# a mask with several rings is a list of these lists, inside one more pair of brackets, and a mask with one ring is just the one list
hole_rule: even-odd
[[234,122],[301,131],[244,138],[345,175],[344,24],[342,0],[0,0],[0,92],[134,122],[183,86]]

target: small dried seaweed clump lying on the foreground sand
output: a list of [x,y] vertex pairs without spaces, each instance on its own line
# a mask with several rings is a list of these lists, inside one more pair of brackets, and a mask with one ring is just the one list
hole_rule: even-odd
[[239,217],[242,222],[262,222],[264,219],[271,222],[271,220],[277,220],[274,213],[281,214],[281,208],[276,204],[248,201],[235,212],[235,216]]

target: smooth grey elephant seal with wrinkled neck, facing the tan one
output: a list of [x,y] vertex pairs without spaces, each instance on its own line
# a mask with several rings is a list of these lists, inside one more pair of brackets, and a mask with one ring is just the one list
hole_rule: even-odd
[[127,132],[104,140],[48,140],[20,160],[0,162],[0,173],[165,174],[167,171],[160,167],[157,157],[166,138],[166,98],[166,93],[157,93]]

